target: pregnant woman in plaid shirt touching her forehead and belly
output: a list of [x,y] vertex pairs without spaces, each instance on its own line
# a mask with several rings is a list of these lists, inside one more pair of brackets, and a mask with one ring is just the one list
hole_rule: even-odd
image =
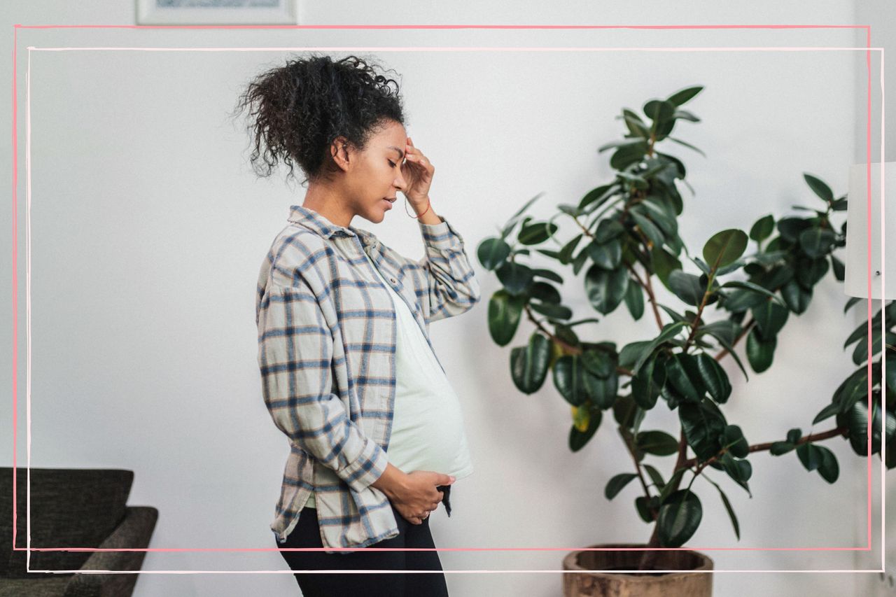
[[[271,530],[306,597],[437,597],[448,592],[429,515],[440,502],[451,515],[452,483],[473,465],[429,324],[480,293],[461,235],[430,201],[435,168],[407,136],[398,83],[370,62],[289,60],[237,106],[253,117],[256,173],[282,160],[308,182],[256,295],[264,402],[289,438]],[[351,226],[383,221],[398,192],[422,259]]]

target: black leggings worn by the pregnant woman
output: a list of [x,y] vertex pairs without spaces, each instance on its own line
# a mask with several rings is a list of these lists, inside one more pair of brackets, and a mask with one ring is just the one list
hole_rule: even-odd
[[[441,487],[439,488],[442,489]],[[445,492],[447,497],[447,492]],[[444,502],[443,498],[443,502]],[[447,504],[446,511],[448,510]],[[409,523],[392,506],[399,534],[392,539],[373,543],[375,548],[435,548],[429,532],[429,517],[421,524]],[[296,528],[282,548],[323,547],[317,523],[317,509],[303,508]],[[442,570],[438,551],[366,551],[326,553],[324,551],[280,551],[293,570]],[[417,572],[411,574],[297,574],[296,581],[304,597],[335,597],[363,594],[366,597],[448,597],[444,574]]]

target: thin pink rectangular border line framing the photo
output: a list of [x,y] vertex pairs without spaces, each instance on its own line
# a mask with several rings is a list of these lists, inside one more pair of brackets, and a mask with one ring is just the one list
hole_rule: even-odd
[[[255,548],[255,549],[238,549],[238,548],[220,548],[220,549],[164,549],[164,548],[146,548],[146,549],[97,549],[97,548],[17,548],[15,547],[15,538],[16,538],[16,521],[17,521],[17,505],[16,505],[16,444],[17,444],[17,396],[18,396],[18,379],[17,379],[17,369],[18,369],[18,239],[17,239],[17,189],[18,189],[18,138],[17,138],[17,126],[18,126],[18,107],[17,107],[17,86],[16,86],[16,54],[17,54],[17,39],[18,39],[18,30],[19,29],[865,29],[866,30],[866,65],[868,68],[868,86],[867,86],[867,125],[866,125],[866,176],[867,176],[867,231],[868,231],[868,264],[867,264],[867,274],[868,274],[868,294],[871,296],[871,50],[881,52],[881,85],[882,85],[882,156],[883,156],[883,48],[871,48],[871,27],[869,25],[21,25],[14,24],[13,25],[13,549],[14,550],[27,550],[27,551],[53,551],[53,550],[71,550],[71,551],[282,551],[284,549],[280,548]],[[30,49],[30,48],[29,48]],[[72,48],[76,49],[76,48]],[[124,49],[124,48],[123,48]],[[150,48],[129,48],[129,49],[150,49]],[[152,49],[163,49],[163,48],[152,48]],[[171,49],[171,48],[165,48]],[[186,48],[185,48],[186,49]],[[189,48],[196,49],[196,48]],[[207,48],[211,49],[211,48]],[[238,49],[246,49],[246,48],[215,48],[215,49],[230,49],[230,50],[238,50]],[[279,49],[279,48],[278,48]],[[286,49],[286,48],[284,48]],[[306,48],[310,49],[310,48]],[[382,51],[385,48],[375,48]],[[438,48],[427,48],[427,49],[438,49]],[[495,49],[495,48],[489,48]],[[519,49],[519,48],[517,48]],[[524,48],[529,50],[537,50],[537,49],[552,49],[552,48]],[[569,49],[587,49],[587,48],[569,48]],[[592,48],[599,49],[599,48]],[[636,50],[636,49],[648,49],[648,48],[625,48],[626,50]],[[657,49],[659,51],[663,51],[662,48],[650,48]],[[667,48],[666,51],[668,51]],[[694,51],[698,48],[685,48],[685,50]],[[710,48],[710,49],[736,49],[736,48]],[[771,48],[740,48],[740,49],[771,49]],[[788,49],[806,49],[806,50],[821,50],[821,49],[861,49],[861,48],[788,48]],[[30,52],[29,52],[30,56]],[[30,130],[26,132],[27,135],[30,135]],[[30,137],[26,141],[26,143],[30,142]],[[30,150],[29,150],[30,151]],[[30,184],[30,174],[29,174],[29,184]],[[29,187],[30,192],[30,187]],[[882,216],[883,216],[883,158],[882,158],[882,173],[881,173],[881,193],[882,193]],[[883,217],[881,221],[882,227],[882,253],[883,251]],[[885,280],[883,276],[885,276],[885,266],[883,264],[883,255],[882,255],[882,281]],[[870,353],[870,337],[871,337],[871,301],[867,302],[867,317],[868,317],[868,337],[869,337],[869,353]],[[30,307],[30,306],[29,306]],[[882,322],[883,327],[883,322]],[[885,359],[884,359],[885,360]],[[884,368],[885,374],[885,364],[882,365]],[[871,362],[870,359],[868,361],[868,392],[871,392]],[[28,408],[30,409],[30,396]],[[871,486],[872,486],[872,469],[871,469],[871,410],[868,411],[868,437],[867,437],[867,446],[868,446],[868,455],[867,455],[867,539],[868,544],[865,548],[858,547],[849,547],[849,548],[725,548],[725,547],[682,547],[682,548],[651,548],[651,549],[695,549],[695,550],[861,550],[867,551],[872,549],[871,541],[872,541],[872,532],[871,532]],[[30,434],[29,434],[30,435]],[[885,459],[885,446],[882,446],[882,469],[883,469],[883,460]],[[885,470],[884,470],[885,474]],[[882,478],[882,547],[883,547],[883,523],[885,516],[885,483]],[[30,542],[30,536],[29,536]],[[301,550],[301,551],[314,551],[321,550],[324,548],[306,548],[306,549],[289,549],[289,550]],[[353,548],[326,548],[329,550],[333,549],[353,549]],[[389,550],[389,548],[364,548],[370,550]],[[507,550],[621,550],[619,548],[435,548],[435,549],[402,549],[405,551],[410,550],[435,550],[435,551],[480,551],[480,550],[488,550],[488,551],[507,551]],[[644,550],[648,548],[626,548],[630,550]],[[882,558],[885,550],[882,549]],[[30,558],[29,558],[30,559]],[[30,570],[32,571],[32,570]],[[38,571],[34,571],[38,572]],[[80,571],[47,571],[47,572],[80,572]],[[103,572],[103,571],[93,571],[95,573]],[[109,572],[109,571],[105,571]],[[126,572],[126,571],[119,571]],[[134,571],[136,573],[144,572],[144,573],[159,573],[159,572],[185,572],[185,571]],[[198,572],[198,571],[196,571]],[[217,572],[217,571],[216,571]],[[246,571],[246,572],[268,572],[268,571]],[[284,571],[276,571],[276,572],[284,572]],[[292,574],[293,571],[285,571],[289,574]],[[356,572],[365,572],[365,571],[356,571]],[[378,570],[369,571],[369,572],[381,572]],[[415,571],[415,572],[427,572],[427,571]],[[448,572],[448,571],[445,571]],[[451,571],[451,572],[472,572],[472,571]],[[482,571],[489,572],[489,571]],[[496,572],[496,571],[492,571]],[[510,570],[508,572],[538,572],[538,571],[523,571],[523,570]],[[541,572],[558,572],[555,570],[547,570]],[[562,571],[561,571],[562,572]],[[629,572],[629,571],[618,571],[618,572]],[[681,571],[670,571],[670,572],[681,572]],[[826,570],[812,570],[812,571],[802,571],[802,570],[793,570],[793,571],[780,571],[780,570],[716,570],[714,572],[828,572]],[[883,562],[881,570],[830,570],[830,572],[883,572]]]

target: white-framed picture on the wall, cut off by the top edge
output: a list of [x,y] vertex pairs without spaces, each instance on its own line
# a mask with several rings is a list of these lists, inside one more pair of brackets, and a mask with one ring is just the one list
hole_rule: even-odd
[[298,0],[137,0],[138,25],[298,24]]

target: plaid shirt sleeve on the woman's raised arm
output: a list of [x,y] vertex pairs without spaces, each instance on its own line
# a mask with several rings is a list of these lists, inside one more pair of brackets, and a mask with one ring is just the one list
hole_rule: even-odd
[[442,221],[438,224],[418,221],[425,255],[417,264],[426,273],[427,323],[460,315],[481,298],[461,234],[444,217],[439,219]]

